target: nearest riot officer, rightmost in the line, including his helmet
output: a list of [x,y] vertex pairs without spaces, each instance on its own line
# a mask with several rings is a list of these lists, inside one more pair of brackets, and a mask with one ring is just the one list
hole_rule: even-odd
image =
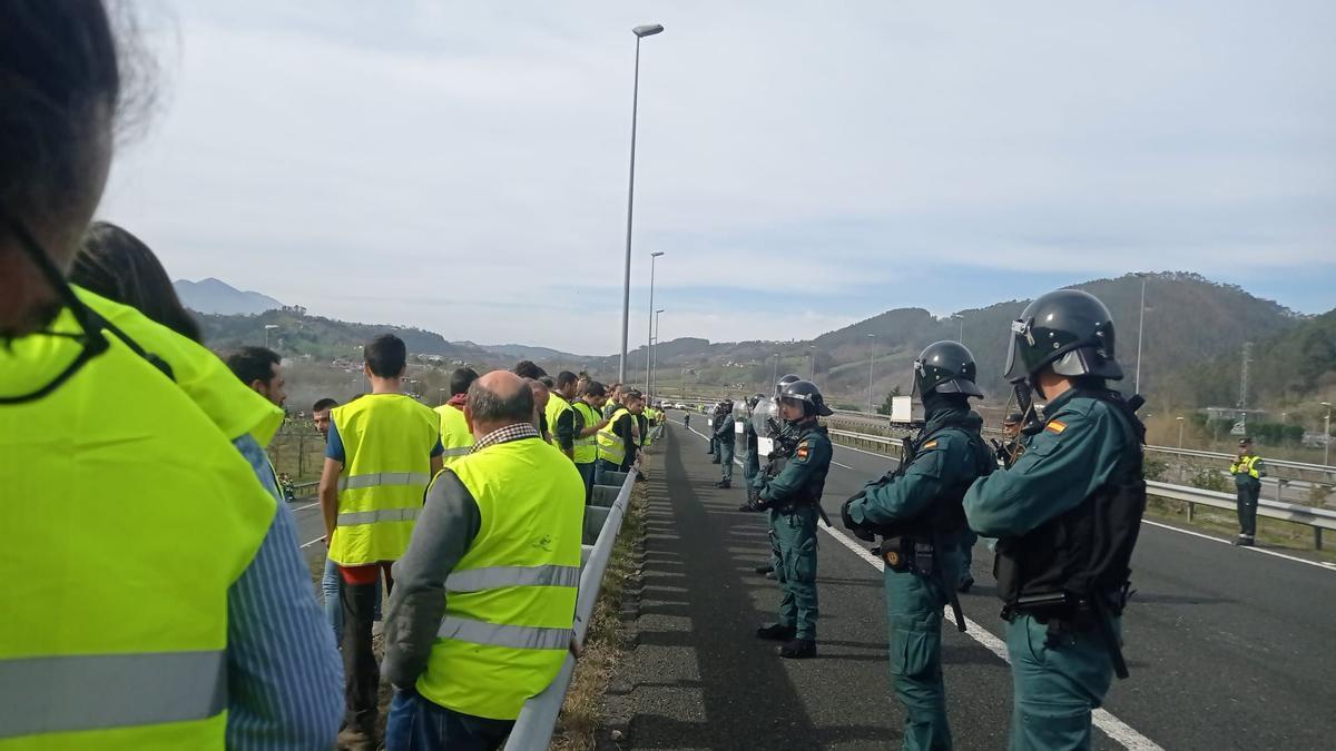
[[1092,710],[1114,673],[1128,675],[1120,631],[1146,504],[1142,400],[1108,388],[1122,378],[1113,319],[1077,290],[1039,297],[1011,325],[1006,378],[1022,410],[1031,389],[1043,398],[1045,417],[1010,469],[970,488],[965,513],[998,537],[1011,748],[1089,748]]

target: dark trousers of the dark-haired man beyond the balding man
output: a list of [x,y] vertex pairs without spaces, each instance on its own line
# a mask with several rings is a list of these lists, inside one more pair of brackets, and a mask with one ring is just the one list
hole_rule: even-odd
[[[385,588],[394,587],[390,564],[381,564]],[[378,581],[349,584],[339,575],[339,603],[343,605],[343,706],[346,722],[353,730],[375,736],[379,716],[377,694],[381,688],[381,668],[371,651],[371,623],[381,601]]]

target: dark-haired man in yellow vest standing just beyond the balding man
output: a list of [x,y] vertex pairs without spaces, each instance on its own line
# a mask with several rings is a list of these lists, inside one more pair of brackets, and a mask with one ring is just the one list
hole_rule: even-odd
[[381,676],[371,652],[377,581],[407,548],[422,496],[441,470],[441,417],[402,393],[407,347],[381,334],[363,347],[371,393],[331,410],[321,510],[329,557],[339,567],[347,731],[354,746],[375,742]]

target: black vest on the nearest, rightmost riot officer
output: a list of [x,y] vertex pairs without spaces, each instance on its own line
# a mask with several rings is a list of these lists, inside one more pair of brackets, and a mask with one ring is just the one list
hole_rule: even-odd
[[[1121,472],[1066,513],[1019,537],[998,540],[993,572],[1009,605],[1055,593],[1102,596],[1128,583],[1132,549],[1146,509],[1141,445],[1145,426],[1117,392],[1082,390],[1113,408],[1126,444]],[[1117,604],[1121,608],[1121,604]]]

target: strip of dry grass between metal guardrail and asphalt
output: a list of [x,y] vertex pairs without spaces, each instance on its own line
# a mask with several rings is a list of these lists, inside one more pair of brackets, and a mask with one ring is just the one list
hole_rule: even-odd
[[640,576],[632,553],[644,533],[644,525],[645,486],[637,484],[631,494],[631,505],[623,520],[617,545],[608,561],[608,571],[603,577],[603,589],[585,636],[584,653],[576,664],[570,690],[566,691],[566,700],[561,706],[561,716],[550,746],[553,750],[588,751],[595,747],[595,732],[601,720],[599,706],[627,648],[621,603],[627,584],[639,580]]

